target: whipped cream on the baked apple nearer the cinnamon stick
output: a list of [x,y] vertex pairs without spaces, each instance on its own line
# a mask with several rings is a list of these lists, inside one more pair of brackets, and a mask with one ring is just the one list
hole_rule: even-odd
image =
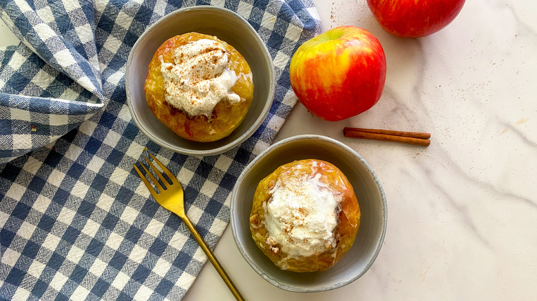
[[320,181],[322,174],[280,175],[266,202],[266,243],[271,252],[289,257],[311,256],[336,247],[342,197]]

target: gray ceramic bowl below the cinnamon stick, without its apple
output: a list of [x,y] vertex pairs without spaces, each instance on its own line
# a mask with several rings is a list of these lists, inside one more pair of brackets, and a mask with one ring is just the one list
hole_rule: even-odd
[[[282,271],[255,245],[249,227],[257,184],[278,166],[299,159],[322,159],[337,166],[355,190],[361,223],[349,252],[327,271]],[[386,198],[379,179],[352,148],[328,137],[299,135],[269,147],[246,166],[233,188],[231,227],[242,256],[268,282],[297,292],[337,289],[364,275],[381,249],[386,233]]]

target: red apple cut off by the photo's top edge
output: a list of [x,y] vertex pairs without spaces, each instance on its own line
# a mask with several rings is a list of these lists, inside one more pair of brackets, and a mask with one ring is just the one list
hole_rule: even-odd
[[428,36],[446,27],[465,0],[367,0],[386,32],[405,38]]

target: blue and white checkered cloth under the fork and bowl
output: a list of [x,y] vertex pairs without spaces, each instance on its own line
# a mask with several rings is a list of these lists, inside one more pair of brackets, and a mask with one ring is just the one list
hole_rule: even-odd
[[[259,131],[218,156],[160,148],[125,104],[125,62],[160,17],[228,8],[271,52],[276,94]],[[290,58],[320,31],[310,0],[3,0],[22,41],[0,48],[0,299],[179,300],[206,257],[177,216],[149,196],[132,164],[154,153],[183,183],[186,208],[213,248],[246,164],[296,98]],[[147,148],[147,150],[145,150]]]

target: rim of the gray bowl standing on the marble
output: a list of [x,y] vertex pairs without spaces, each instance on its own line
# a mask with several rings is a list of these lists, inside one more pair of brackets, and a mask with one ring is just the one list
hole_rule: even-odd
[[[249,170],[251,170],[253,168],[253,166],[255,166],[255,164],[257,164],[257,162],[260,161],[262,159],[262,157],[264,157],[264,155],[266,155],[267,153],[271,152],[273,149],[275,149],[277,147],[283,146],[284,144],[295,143],[295,142],[297,142],[299,140],[322,140],[324,142],[336,144],[337,146],[339,146],[339,147],[343,148],[344,150],[348,151],[350,154],[352,154],[352,156],[356,157],[357,159],[359,159],[359,161],[361,161],[362,164],[364,164],[364,167],[368,170],[368,172],[370,172],[370,174],[372,175],[373,179],[375,180],[375,183],[377,184],[377,188],[379,189],[379,193],[381,195],[381,207],[382,207],[383,225],[382,225],[382,229],[381,229],[381,235],[379,237],[379,243],[375,246],[375,253],[368,259],[368,263],[364,266],[364,269],[362,269],[359,274],[353,276],[349,280],[342,281],[342,282],[337,282],[334,285],[331,285],[329,287],[324,286],[324,287],[316,287],[316,288],[313,288],[313,289],[304,289],[302,287],[293,287],[293,286],[290,286],[290,285],[286,285],[286,284],[280,282],[279,280],[277,280],[275,278],[269,277],[262,271],[262,269],[260,269],[260,267],[257,266],[257,264],[251,258],[249,258],[249,256],[246,255],[246,252],[244,252],[244,249],[240,246],[240,243],[239,243],[239,238],[238,238],[239,230],[238,230],[238,225],[237,225],[238,223],[237,223],[237,221],[235,220],[235,217],[234,217],[235,214],[237,214],[236,209],[235,209],[235,208],[237,208],[235,197],[237,195],[237,190],[238,190],[239,183],[242,181],[242,179],[244,179],[246,173],[249,172]],[[337,289],[339,287],[344,287],[345,285],[348,285],[348,284],[354,282],[355,280],[357,280],[358,278],[360,278],[361,276],[366,274],[366,271],[368,271],[368,269],[370,269],[372,264],[377,259],[377,256],[379,255],[379,252],[380,252],[381,247],[383,245],[384,238],[386,236],[386,227],[388,225],[388,203],[386,201],[386,194],[384,194],[384,190],[382,188],[382,185],[380,183],[379,178],[377,177],[377,175],[375,175],[375,172],[373,172],[372,168],[369,166],[369,164],[364,159],[364,157],[361,157],[361,155],[359,155],[355,150],[350,148],[350,146],[347,146],[346,144],[344,144],[342,142],[339,142],[338,140],[335,140],[335,139],[333,139],[331,137],[326,137],[324,135],[315,135],[315,134],[304,134],[304,135],[295,135],[295,136],[288,137],[288,138],[286,138],[284,140],[281,140],[280,142],[276,142],[275,144],[269,146],[268,148],[263,150],[259,155],[257,155],[257,157],[255,157],[248,164],[248,166],[246,166],[246,168],[244,168],[244,170],[242,170],[242,172],[240,173],[240,175],[239,175],[239,177],[237,179],[237,182],[235,183],[235,186],[233,186],[233,191],[232,191],[232,196],[231,196],[231,210],[230,211],[231,211],[231,214],[230,214],[231,232],[233,234],[233,240],[235,241],[235,245],[239,249],[239,252],[242,255],[242,257],[244,258],[244,260],[246,260],[246,262],[255,270],[255,272],[257,272],[257,274],[259,274],[262,278],[264,278],[264,280],[270,282],[275,287],[279,287],[280,289],[284,289],[286,291],[294,291],[294,292],[298,292],[298,293],[314,293],[314,292],[319,292],[319,291],[329,291],[329,290],[332,290],[332,289]]]

